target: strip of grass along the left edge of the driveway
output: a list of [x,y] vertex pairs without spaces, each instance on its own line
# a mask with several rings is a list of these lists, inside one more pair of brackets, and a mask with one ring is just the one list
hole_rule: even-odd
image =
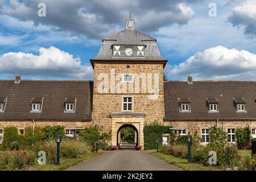
[[101,155],[103,152],[96,153],[90,153],[86,155],[79,155],[77,158],[74,159],[64,159],[60,161],[60,165],[56,164],[46,164],[46,165],[39,165],[35,164],[34,166],[30,166],[27,168],[28,171],[61,171],[64,169],[67,169],[71,166],[75,166],[76,164],[79,164],[80,162],[94,158],[95,156]]

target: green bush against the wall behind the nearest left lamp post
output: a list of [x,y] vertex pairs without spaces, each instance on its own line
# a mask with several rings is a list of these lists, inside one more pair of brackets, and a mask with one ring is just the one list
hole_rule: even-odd
[[60,126],[60,125],[43,127],[43,132],[44,132],[44,140],[55,139],[55,136],[59,134],[62,137],[65,137],[64,126]]

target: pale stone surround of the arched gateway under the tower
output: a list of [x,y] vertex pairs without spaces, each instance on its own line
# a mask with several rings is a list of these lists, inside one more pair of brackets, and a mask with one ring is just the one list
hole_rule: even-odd
[[118,142],[118,130],[127,125],[135,128],[138,131],[138,145],[144,146],[144,113],[110,113],[112,118],[112,145],[117,145]]

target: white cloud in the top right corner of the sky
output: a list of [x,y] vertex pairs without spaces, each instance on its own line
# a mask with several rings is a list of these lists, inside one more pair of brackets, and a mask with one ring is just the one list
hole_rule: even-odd
[[256,1],[246,0],[235,6],[229,21],[233,26],[245,27],[246,34],[256,36]]

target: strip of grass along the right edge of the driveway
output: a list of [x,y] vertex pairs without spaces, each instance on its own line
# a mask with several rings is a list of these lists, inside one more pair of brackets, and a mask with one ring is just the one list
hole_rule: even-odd
[[217,171],[221,170],[220,168],[213,167],[213,166],[205,166],[202,163],[190,163],[188,164],[187,159],[177,158],[173,155],[166,155],[160,152],[152,152],[151,155],[154,155],[160,159],[165,160],[166,162],[177,166],[185,171]]

